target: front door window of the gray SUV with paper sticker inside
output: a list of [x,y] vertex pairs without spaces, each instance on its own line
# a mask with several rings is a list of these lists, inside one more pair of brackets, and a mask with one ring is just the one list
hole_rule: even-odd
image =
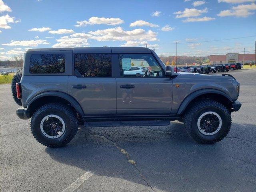
[[162,77],[162,68],[151,54],[120,54],[122,77]]

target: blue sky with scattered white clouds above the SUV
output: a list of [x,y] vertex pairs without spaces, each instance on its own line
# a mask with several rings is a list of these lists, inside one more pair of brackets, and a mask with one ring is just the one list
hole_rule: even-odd
[[[254,50],[256,0],[0,0],[0,60],[28,48],[156,46],[157,54]],[[228,38],[216,42],[202,42]],[[190,43],[192,42],[192,43]],[[252,53],[252,52],[247,52]]]

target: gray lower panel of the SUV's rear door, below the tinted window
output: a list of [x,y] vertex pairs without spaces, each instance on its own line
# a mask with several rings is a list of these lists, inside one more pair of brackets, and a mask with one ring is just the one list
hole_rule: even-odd
[[[84,89],[74,89],[74,85],[85,85]],[[116,114],[115,78],[77,78],[69,76],[68,94],[82,106],[84,113],[91,115]]]

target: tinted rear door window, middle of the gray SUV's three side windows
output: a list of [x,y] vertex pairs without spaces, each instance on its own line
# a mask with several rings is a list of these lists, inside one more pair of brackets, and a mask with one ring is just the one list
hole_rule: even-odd
[[75,54],[74,74],[77,77],[111,77],[111,54]]

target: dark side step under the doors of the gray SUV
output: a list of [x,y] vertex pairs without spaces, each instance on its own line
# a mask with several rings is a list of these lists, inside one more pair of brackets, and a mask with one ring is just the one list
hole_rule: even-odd
[[170,125],[170,120],[150,120],[150,121],[101,121],[84,122],[85,127],[114,127],[114,126],[163,126]]

